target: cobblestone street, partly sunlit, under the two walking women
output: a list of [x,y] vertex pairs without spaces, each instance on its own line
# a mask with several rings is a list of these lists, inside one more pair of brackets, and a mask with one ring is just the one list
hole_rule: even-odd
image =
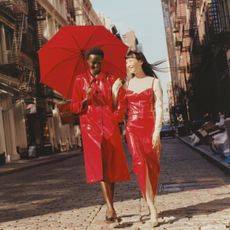
[[[133,174],[132,181],[116,185],[122,221],[104,223],[100,187],[85,183],[81,155],[3,175],[0,183],[2,230],[151,229]],[[165,139],[156,204],[155,229],[230,229],[230,177],[179,140]]]

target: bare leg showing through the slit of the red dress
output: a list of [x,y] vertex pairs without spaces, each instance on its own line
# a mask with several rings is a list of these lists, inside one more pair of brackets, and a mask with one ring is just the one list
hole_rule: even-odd
[[149,206],[151,225],[157,226],[158,225],[157,209],[154,204],[154,195],[153,195],[152,186],[149,180],[149,173],[148,173],[147,167],[146,167],[146,202]]

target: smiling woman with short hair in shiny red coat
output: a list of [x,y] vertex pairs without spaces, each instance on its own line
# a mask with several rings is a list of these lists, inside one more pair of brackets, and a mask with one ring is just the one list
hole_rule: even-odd
[[113,106],[114,78],[101,73],[103,51],[92,48],[86,52],[89,71],[76,77],[71,109],[80,114],[86,180],[100,182],[107,204],[106,220],[114,221],[114,183],[129,180],[118,123],[123,107],[119,100]]

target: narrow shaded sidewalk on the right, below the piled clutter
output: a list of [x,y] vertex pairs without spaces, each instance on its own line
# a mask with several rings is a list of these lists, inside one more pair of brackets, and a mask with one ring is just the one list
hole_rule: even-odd
[[224,162],[224,159],[221,158],[221,156],[219,156],[218,154],[213,153],[208,145],[193,146],[188,136],[177,136],[177,138],[185,144],[187,144],[188,146],[190,146],[191,148],[198,151],[204,158],[210,160],[212,163],[216,164],[218,167],[222,168],[227,173],[230,173],[230,164]]

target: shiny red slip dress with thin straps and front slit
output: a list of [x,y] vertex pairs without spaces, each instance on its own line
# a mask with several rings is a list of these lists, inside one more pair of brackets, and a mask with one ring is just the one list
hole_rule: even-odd
[[133,159],[132,168],[137,175],[142,195],[145,198],[147,167],[155,196],[160,172],[160,148],[152,148],[152,134],[155,125],[153,85],[140,93],[127,89],[126,100],[128,103],[126,138]]

